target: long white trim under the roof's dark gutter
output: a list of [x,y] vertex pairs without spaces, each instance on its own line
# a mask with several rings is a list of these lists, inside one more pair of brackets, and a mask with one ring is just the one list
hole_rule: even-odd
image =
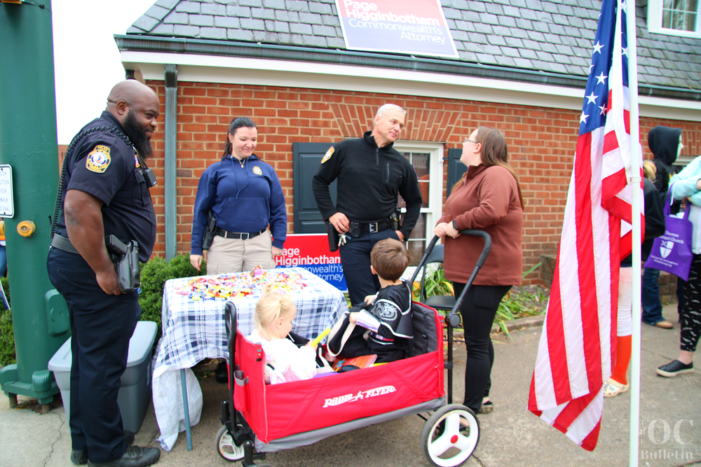
[[[213,55],[127,50],[121,52],[121,61],[124,69],[134,69],[144,80],[162,81],[163,66],[177,64],[178,81],[377,92],[576,111],[582,109],[585,91],[584,82],[577,89],[426,71]],[[639,104],[641,117],[701,121],[701,102],[640,96]]]

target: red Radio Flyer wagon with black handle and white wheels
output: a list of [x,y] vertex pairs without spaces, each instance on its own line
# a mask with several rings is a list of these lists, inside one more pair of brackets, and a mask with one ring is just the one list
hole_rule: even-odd
[[[479,230],[461,234],[484,237],[485,243],[468,284],[445,317],[447,361],[442,316],[414,302],[414,339],[407,358],[329,377],[265,384],[264,351],[237,330],[236,307],[227,302],[229,399],[222,401],[223,426],[216,437],[219,455],[228,461],[243,461],[245,467],[269,466],[255,461],[264,460],[267,452],[310,445],[355,428],[418,414],[426,420],[421,446],[430,463],[449,467],[465,462],[477,447],[479,424],[472,410],[451,403],[452,329],[460,323],[460,303],[489,254],[491,238]],[[430,242],[417,274],[437,239]],[[412,281],[415,278],[416,274]],[[427,412],[433,412],[428,419],[421,415]]]

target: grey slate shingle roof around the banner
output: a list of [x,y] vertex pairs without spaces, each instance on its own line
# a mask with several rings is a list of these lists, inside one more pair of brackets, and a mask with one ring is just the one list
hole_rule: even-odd
[[[441,3],[457,60],[587,76],[601,0]],[[701,90],[701,39],[651,34],[643,7],[637,27],[641,84]],[[127,34],[346,48],[335,0],[157,0]]]

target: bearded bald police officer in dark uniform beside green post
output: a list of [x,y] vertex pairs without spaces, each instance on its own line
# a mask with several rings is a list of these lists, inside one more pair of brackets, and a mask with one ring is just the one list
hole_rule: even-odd
[[[147,85],[118,83],[107,109],[76,135],[65,155],[60,216],[48,253],[51,283],[70,312],[71,461],[142,467],[157,447],[130,446],[117,405],[129,340],[141,315],[137,291],[123,293],[105,237],[137,242],[146,263],[156,241],[156,214],[143,158],[153,153],[160,102]],[[138,155],[137,155],[138,151]]]

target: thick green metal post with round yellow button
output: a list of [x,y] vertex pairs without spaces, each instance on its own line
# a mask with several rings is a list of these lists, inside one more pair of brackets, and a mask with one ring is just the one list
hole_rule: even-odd
[[20,394],[45,410],[59,391],[48,361],[70,335],[46,272],[58,184],[52,36],[50,0],[0,4],[0,164],[12,169],[15,209],[5,232],[17,355],[0,370],[0,389],[11,404]]

